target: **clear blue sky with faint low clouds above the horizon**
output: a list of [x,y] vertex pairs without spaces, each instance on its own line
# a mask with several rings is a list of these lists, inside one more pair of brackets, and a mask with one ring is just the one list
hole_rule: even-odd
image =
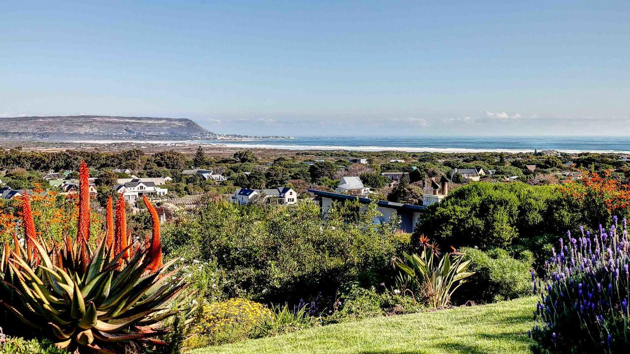
[[[628,1],[3,1],[0,117],[630,135]],[[1,119],[1,118],[0,118]]]

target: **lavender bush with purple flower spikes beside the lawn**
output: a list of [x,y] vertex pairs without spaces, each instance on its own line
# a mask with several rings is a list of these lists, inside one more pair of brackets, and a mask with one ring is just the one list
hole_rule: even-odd
[[567,232],[545,262],[545,276],[536,280],[532,271],[541,296],[530,332],[536,353],[618,353],[630,346],[627,222],[618,231],[613,219],[597,233]]

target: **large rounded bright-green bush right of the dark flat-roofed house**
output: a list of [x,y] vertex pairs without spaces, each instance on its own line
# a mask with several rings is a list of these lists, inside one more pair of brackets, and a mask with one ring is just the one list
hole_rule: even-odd
[[576,205],[559,186],[469,183],[442,203],[430,205],[416,232],[435,239],[442,248],[515,248],[543,254],[553,235],[581,220]]

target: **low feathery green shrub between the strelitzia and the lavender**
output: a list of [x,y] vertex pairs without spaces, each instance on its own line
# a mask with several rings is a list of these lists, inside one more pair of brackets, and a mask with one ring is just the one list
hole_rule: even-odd
[[470,260],[469,270],[476,274],[457,294],[457,302],[493,302],[510,300],[532,294],[530,270],[533,255],[524,251],[519,259],[512,258],[503,249],[488,252],[464,248],[464,259]]

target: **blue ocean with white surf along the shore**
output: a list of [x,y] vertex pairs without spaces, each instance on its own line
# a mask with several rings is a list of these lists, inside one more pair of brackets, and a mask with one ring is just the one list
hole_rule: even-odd
[[231,147],[294,149],[294,150],[354,150],[408,152],[532,152],[554,149],[561,152],[626,152],[630,153],[630,137],[295,137],[294,139],[204,140],[204,144]]

